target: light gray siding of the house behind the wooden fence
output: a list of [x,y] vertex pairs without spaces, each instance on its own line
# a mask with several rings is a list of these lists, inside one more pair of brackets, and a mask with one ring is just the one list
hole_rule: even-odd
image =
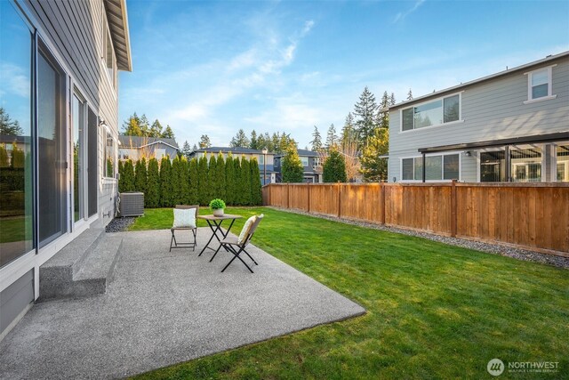
[[[525,72],[554,64],[557,66],[552,69],[552,94],[557,98],[524,104],[527,101]],[[569,130],[569,60],[566,57],[465,86],[445,95],[459,92],[463,122],[402,133],[400,109],[391,109],[389,182],[393,177],[400,180],[400,158],[419,156],[420,148]],[[410,105],[413,103],[405,104],[403,108]],[[462,155],[461,161],[462,180],[477,181],[476,155],[471,158]]]

